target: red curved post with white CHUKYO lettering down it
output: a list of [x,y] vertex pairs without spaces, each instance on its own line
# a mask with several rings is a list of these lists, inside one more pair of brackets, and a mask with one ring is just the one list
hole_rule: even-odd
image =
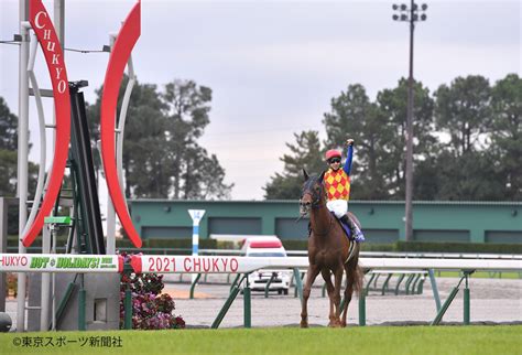
[[[54,30],[51,18],[41,0],[31,0],[29,6],[29,18],[36,33],[40,46],[47,63],[47,69],[53,85],[54,108],[56,111],[56,141],[54,147],[53,169],[50,175],[47,192],[42,206],[34,218],[33,224],[22,237],[25,247],[31,246],[42,230],[44,218],[50,215],[62,187],[65,164],[70,139],[70,97],[65,69],[62,46]],[[35,208],[36,206],[33,206]]]

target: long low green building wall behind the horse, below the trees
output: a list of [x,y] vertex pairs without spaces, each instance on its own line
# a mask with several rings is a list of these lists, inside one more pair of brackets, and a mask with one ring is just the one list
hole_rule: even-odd
[[[404,202],[351,201],[349,209],[370,243],[404,240]],[[295,223],[293,201],[130,201],[132,220],[142,238],[189,238],[187,209],[205,209],[199,235],[278,235],[307,237],[307,219]],[[423,241],[522,244],[520,202],[414,202],[413,234]]]

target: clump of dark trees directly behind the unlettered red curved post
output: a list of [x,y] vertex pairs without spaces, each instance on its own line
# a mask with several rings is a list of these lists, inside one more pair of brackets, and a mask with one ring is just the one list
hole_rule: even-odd
[[[121,85],[118,110],[127,79]],[[101,90],[88,108],[93,139],[99,137]],[[228,198],[232,185],[224,183],[225,170],[217,157],[209,157],[197,143],[209,122],[210,100],[211,90],[191,80],[174,80],[164,93],[156,85],[134,84],[122,158],[128,196]]]

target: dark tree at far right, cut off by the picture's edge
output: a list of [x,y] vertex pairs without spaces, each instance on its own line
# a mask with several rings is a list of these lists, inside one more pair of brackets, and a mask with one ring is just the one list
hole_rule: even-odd
[[487,153],[499,172],[502,197],[522,200],[522,78],[509,74],[492,88],[491,147]]

